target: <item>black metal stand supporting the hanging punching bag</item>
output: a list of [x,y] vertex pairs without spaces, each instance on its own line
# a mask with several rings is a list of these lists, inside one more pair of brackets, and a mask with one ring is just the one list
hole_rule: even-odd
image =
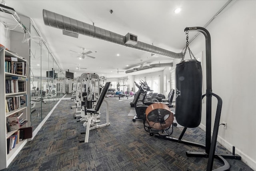
[[[211,66],[211,38],[210,33],[208,30],[202,27],[187,27],[184,29],[184,31],[199,31],[202,32],[206,38],[206,94],[202,95],[202,99],[204,96],[206,96],[206,142],[205,146],[199,143],[194,143],[190,141],[182,140],[182,137],[187,129],[187,127],[184,127],[182,130],[182,133],[180,134],[180,137],[178,139],[172,138],[172,137],[163,137],[159,135],[155,135],[158,138],[175,141],[178,143],[184,143],[188,145],[194,145],[196,147],[202,147],[205,148],[205,152],[191,152],[186,151],[186,155],[188,157],[208,157],[208,163],[207,163],[207,169],[206,171],[212,171],[213,161],[214,157],[217,157],[222,163],[224,164],[222,167],[219,167],[217,169],[214,169],[214,171],[227,171],[230,168],[229,163],[224,159],[238,159],[241,160],[241,156],[235,154],[235,147],[233,146],[232,154],[228,153],[215,153],[216,149],[216,143],[217,143],[217,136],[218,136],[218,129],[220,124],[220,114],[221,114],[221,108],[222,108],[222,99],[218,95],[212,93],[212,66]],[[212,139],[211,139],[211,117],[212,117],[212,96],[216,97],[218,100],[217,104],[217,110],[216,110],[216,116],[214,121],[214,128],[212,133]]]

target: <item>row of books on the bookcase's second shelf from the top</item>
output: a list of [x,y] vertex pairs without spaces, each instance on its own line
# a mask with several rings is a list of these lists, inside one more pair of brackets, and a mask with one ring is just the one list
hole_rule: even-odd
[[5,80],[5,93],[25,91],[25,82],[19,80]]

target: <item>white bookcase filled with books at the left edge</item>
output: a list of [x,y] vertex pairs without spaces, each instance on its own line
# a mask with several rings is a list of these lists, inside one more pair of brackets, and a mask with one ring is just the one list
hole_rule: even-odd
[[[0,170],[8,167],[28,141],[28,139],[23,139],[19,143],[15,143],[15,147],[10,151],[9,148],[7,149],[11,139],[15,139],[14,142],[19,139],[18,128],[24,129],[31,125],[27,107],[29,83],[26,66],[26,60],[18,54],[6,49],[0,50]],[[20,126],[22,122],[24,125]],[[12,136],[14,134],[15,136]]]

